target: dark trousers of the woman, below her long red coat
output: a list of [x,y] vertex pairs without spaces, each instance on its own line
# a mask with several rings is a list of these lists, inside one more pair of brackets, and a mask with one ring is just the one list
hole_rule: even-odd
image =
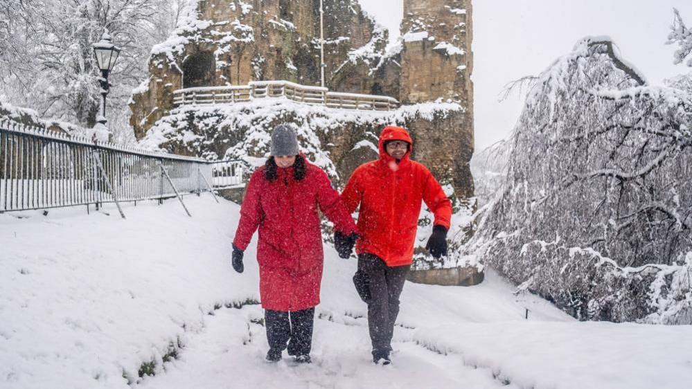
[[272,311],[265,309],[267,343],[272,350],[285,350],[289,355],[310,355],[314,308],[303,311]]

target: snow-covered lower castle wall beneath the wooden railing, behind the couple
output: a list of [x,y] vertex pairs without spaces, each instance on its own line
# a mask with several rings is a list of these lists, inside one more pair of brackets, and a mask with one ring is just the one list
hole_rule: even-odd
[[[387,125],[411,129],[414,159],[434,170],[445,183],[461,183],[450,171],[461,143],[445,140],[447,153],[437,158],[429,147],[439,145],[443,134],[418,133],[430,126],[454,126],[465,110],[456,103],[429,102],[403,106],[396,111],[356,111],[323,105],[306,105],[286,98],[263,98],[236,105],[182,106],[159,120],[140,142],[151,149],[202,156],[209,160],[238,159],[251,170],[269,156],[269,134],[281,123],[299,129],[302,152],[341,183],[366,161],[378,157],[378,136]],[[439,148],[439,147],[438,147]],[[445,172],[445,170],[447,172]],[[468,190],[458,190],[468,192]]]

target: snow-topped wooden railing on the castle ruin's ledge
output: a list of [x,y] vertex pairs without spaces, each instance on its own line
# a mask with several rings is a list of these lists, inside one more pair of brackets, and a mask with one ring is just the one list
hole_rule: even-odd
[[173,104],[176,106],[235,104],[267,97],[285,97],[304,104],[326,105],[340,109],[391,111],[399,107],[399,102],[388,96],[330,92],[327,88],[308,87],[288,81],[255,81],[235,87],[178,89],[173,92]]

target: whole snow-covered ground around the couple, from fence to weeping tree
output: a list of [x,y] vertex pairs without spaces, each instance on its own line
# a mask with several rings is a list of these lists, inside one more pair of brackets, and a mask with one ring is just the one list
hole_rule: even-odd
[[[393,365],[373,365],[356,262],[326,248],[311,365],[265,363],[255,246],[231,269],[239,207],[0,215],[0,388],[688,388],[692,327],[579,323],[489,271],[407,283]],[[526,320],[526,309],[529,319]],[[178,348],[178,346],[180,346]],[[176,350],[177,359],[170,358]],[[166,356],[168,354],[169,356]],[[166,356],[166,357],[165,357]],[[167,359],[163,363],[163,359]],[[155,376],[139,378],[143,363]]]

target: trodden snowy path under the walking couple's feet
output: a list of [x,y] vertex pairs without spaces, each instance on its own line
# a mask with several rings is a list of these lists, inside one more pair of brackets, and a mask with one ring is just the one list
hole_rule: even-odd
[[[181,358],[166,374],[145,379],[143,388],[512,388],[489,369],[463,365],[461,356],[442,355],[411,340],[411,329],[398,327],[394,364],[373,365],[366,320],[348,316],[315,320],[313,363],[297,365],[284,352],[267,363],[265,329],[258,306],[222,308],[201,333],[190,336]],[[342,321],[343,320],[343,321]],[[206,378],[202,378],[206,377]]]

